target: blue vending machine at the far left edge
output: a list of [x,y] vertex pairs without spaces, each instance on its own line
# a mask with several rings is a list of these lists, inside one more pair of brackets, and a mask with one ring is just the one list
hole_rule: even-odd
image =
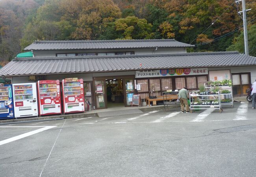
[[0,85],[0,119],[13,119],[13,90],[11,84]]

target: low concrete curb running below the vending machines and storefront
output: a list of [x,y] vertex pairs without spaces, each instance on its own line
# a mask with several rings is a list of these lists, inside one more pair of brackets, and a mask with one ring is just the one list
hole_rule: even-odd
[[[168,105],[169,108],[180,107],[180,105]],[[147,107],[137,107],[141,111],[153,111],[164,109],[164,105],[159,106],[147,106]],[[106,112],[107,109],[106,109]],[[23,122],[33,122],[33,121],[45,121],[45,120],[60,120],[60,119],[74,119],[74,118],[84,118],[84,117],[92,117],[98,116],[98,112],[86,112],[79,114],[65,114],[65,115],[57,115],[57,116],[42,116],[42,117],[33,117],[33,118],[19,118],[19,119],[7,119],[0,120],[0,124],[13,124],[13,123],[23,123]]]

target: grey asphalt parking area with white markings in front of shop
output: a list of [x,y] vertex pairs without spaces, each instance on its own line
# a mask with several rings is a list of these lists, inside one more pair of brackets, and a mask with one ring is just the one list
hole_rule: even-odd
[[256,174],[256,109],[155,110],[0,125],[0,176]]

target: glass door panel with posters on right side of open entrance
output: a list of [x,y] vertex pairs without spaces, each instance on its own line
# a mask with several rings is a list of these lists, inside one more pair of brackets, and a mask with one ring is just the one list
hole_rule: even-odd
[[124,95],[124,101],[125,101],[125,106],[132,106],[132,96],[135,94],[135,89],[134,89],[134,78],[128,78],[124,79],[124,90],[125,90],[125,95]]

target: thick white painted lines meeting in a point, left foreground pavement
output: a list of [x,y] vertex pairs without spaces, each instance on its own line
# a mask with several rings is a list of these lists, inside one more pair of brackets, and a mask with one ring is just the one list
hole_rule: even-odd
[[[16,126],[13,126],[13,127],[16,127]],[[13,127],[9,126],[7,128],[13,128]],[[22,126],[17,126],[17,127],[22,127]],[[26,127],[43,127],[43,128],[37,129],[37,130],[34,130],[34,131],[30,131],[28,133],[23,133],[21,135],[14,136],[12,138],[8,138],[6,140],[2,140],[2,141],[0,141],[0,145],[6,144],[6,143],[9,143],[9,142],[13,142],[15,140],[19,140],[21,138],[25,138],[25,137],[30,136],[30,135],[34,135],[34,134],[39,133],[41,131],[45,131],[45,130],[48,130],[48,129],[51,129],[51,128],[57,127],[57,126],[26,126]]]

